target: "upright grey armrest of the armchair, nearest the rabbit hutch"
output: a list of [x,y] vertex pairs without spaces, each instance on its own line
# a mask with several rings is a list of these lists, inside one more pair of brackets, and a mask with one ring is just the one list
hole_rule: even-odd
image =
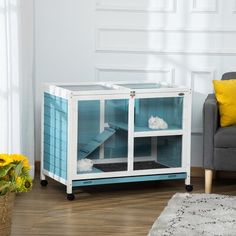
[[213,169],[214,135],[219,127],[218,104],[214,94],[209,94],[203,105],[203,167]]

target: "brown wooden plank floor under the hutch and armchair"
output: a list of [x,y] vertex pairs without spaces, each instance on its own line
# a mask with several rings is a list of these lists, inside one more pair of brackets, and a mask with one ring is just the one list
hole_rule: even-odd
[[[204,191],[203,179],[192,183],[193,193]],[[217,180],[213,191],[236,195],[236,180]],[[147,235],[176,192],[185,192],[183,180],[83,188],[68,201],[63,185],[41,187],[36,178],[31,192],[16,197],[12,236]]]

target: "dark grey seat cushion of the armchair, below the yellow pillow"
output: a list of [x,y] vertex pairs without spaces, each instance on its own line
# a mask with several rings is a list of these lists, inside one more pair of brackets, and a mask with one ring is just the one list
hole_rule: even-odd
[[217,148],[236,148],[236,126],[219,128],[214,143]]

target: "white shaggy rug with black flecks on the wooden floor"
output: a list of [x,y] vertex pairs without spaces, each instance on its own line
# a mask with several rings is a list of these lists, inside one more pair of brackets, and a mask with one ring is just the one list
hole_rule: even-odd
[[177,193],[149,236],[236,236],[236,197]]

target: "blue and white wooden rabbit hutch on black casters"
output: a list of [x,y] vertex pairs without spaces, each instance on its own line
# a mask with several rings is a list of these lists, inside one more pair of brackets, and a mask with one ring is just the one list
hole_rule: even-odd
[[73,188],[185,179],[190,185],[191,91],[156,82],[46,84],[41,185]]

